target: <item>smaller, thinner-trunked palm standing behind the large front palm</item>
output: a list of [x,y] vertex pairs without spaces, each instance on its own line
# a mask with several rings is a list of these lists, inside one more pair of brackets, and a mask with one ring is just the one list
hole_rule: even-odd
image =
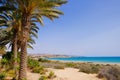
[[[0,33],[1,33],[0,44],[6,45],[10,43],[10,45],[12,46],[11,51],[14,53],[13,58],[14,58],[14,69],[15,69],[16,76],[17,76],[17,70],[16,70],[17,69],[17,53],[18,53],[18,50],[20,49],[20,43],[21,43],[21,41],[19,40],[19,38],[21,38],[19,33],[21,30],[20,28],[21,26],[20,26],[20,21],[18,20],[17,17],[18,15],[14,15],[14,11],[12,11],[12,13],[7,11],[7,12],[4,12],[4,14],[3,13],[0,14],[0,22],[1,22],[0,27],[3,27],[3,26],[7,27],[6,29],[5,28],[0,29]],[[38,30],[39,30],[38,26],[31,21],[30,38],[27,44],[29,48],[32,48],[31,45],[35,43],[35,41],[33,40],[33,37],[37,38]],[[12,33],[12,34],[8,34],[8,33]]]

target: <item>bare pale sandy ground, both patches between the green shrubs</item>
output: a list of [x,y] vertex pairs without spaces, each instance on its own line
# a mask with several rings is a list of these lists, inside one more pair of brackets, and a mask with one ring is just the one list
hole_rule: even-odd
[[[53,71],[57,76],[52,80],[102,80],[96,77],[96,74],[86,74],[79,72],[78,69],[74,68],[65,68],[65,69],[52,69],[49,68],[48,71]],[[36,73],[27,74],[28,80],[39,80],[40,75]]]

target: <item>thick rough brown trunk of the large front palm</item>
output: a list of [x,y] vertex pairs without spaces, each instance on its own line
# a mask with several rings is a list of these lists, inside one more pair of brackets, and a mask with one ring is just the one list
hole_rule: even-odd
[[22,40],[18,80],[27,79],[27,41],[30,35],[30,16],[24,13],[22,17]]

